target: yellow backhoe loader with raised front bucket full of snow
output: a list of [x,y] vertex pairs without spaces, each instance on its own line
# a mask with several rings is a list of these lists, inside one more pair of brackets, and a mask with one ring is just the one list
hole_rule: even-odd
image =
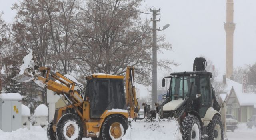
[[[137,117],[140,108],[134,87],[134,67],[126,70],[126,93],[124,76],[92,74],[86,77],[86,87],[82,87],[50,68],[40,67],[36,73],[32,76],[34,82],[45,84],[69,103],[56,109],[47,129],[49,140],[81,140],[83,137],[121,140],[128,128],[128,117]],[[24,82],[28,76],[30,74],[20,74],[13,79]],[[74,90],[75,86],[80,86],[79,90]]]

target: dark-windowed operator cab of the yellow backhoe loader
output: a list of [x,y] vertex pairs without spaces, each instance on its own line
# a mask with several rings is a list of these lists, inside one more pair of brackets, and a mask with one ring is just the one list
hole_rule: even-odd
[[123,79],[124,76],[108,74],[92,74],[86,77],[84,100],[90,102],[90,118],[100,118],[106,110],[127,109]]

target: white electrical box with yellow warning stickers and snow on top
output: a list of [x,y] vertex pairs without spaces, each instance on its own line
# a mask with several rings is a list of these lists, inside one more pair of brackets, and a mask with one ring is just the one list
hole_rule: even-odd
[[12,132],[21,128],[21,101],[19,93],[0,94],[0,129]]

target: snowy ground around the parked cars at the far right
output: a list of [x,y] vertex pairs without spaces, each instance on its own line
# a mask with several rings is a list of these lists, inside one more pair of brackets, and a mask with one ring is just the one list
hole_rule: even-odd
[[256,127],[249,129],[246,123],[239,124],[235,132],[227,132],[227,138],[228,140],[255,140]]

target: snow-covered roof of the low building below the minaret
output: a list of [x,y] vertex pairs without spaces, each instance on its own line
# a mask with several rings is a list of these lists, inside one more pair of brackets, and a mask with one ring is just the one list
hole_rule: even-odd
[[226,86],[223,92],[229,95],[232,87],[240,106],[254,106],[256,103],[256,93],[244,93],[242,84],[226,78]]

